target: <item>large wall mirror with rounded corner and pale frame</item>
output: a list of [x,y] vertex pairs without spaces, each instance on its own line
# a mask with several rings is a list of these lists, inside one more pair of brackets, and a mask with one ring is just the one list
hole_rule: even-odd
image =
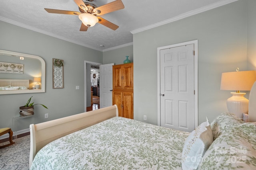
[[45,92],[45,62],[35,55],[0,50],[0,94]]

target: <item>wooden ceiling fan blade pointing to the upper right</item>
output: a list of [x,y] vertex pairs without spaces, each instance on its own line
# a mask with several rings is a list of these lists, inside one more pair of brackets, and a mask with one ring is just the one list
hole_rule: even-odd
[[106,5],[99,6],[98,8],[95,8],[93,11],[95,12],[95,14],[100,16],[103,14],[121,10],[123,8],[124,8],[124,4],[123,4],[122,0],[116,0],[116,1],[110,2]]

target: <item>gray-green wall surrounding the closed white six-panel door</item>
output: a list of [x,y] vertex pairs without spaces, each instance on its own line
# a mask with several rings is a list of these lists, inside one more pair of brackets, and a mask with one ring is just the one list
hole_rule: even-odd
[[[250,3],[254,3],[253,0]],[[157,124],[157,48],[198,39],[198,123],[228,111],[222,72],[247,70],[247,0],[239,0],[133,36],[134,119]],[[255,7],[255,5],[254,5]],[[250,8],[255,18],[254,8]],[[255,21],[255,19],[252,19]],[[255,28],[255,23],[254,23]],[[254,31],[254,32],[253,32]],[[251,30],[255,36],[255,29]],[[254,39],[255,41],[255,39]],[[254,46],[255,47],[255,46]],[[255,56],[254,56],[255,58]]]

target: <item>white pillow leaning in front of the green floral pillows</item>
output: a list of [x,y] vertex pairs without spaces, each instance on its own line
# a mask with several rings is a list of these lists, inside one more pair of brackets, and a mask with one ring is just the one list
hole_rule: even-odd
[[[207,117],[206,117],[207,119]],[[213,142],[212,130],[207,119],[190,133],[182,150],[182,169],[194,170]]]

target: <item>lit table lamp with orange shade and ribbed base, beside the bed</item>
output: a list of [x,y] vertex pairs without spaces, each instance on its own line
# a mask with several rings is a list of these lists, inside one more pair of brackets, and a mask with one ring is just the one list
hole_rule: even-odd
[[230,113],[234,113],[238,118],[243,119],[243,114],[248,113],[249,100],[244,97],[246,93],[240,90],[249,91],[256,81],[256,70],[224,72],[221,76],[220,90],[236,90],[231,92],[233,96],[228,98],[227,107]]

